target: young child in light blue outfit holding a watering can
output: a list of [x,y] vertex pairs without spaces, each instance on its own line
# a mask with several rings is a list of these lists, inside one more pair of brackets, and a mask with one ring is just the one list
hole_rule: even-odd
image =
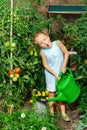
[[[58,74],[60,71],[66,72],[66,65],[68,61],[68,51],[60,40],[51,42],[50,37],[44,32],[38,32],[34,36],[34,42],[40,48],[40,55],[42,58],[43,66],[45,68],[46,87],[49,91],[49,98],[55,96],[55,80],[60,78]],[[54,101],[49,102],[50,113],[54,114]],[[69,117],[65,111],[64,103],[59,103],[62,118],[64,121],[69,121]]]

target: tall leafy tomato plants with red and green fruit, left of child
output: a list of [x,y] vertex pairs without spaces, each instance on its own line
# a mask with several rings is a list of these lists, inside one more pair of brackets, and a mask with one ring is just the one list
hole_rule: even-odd
[[[0,83],[4,88],[1,98],[4,98],[5,107],[12,103],[17,109],[34,87],[43,86],[42,65],[37,55],[38,50],[34,49],[33,35],[37,31],[46,29],[50,20],[38,13],[33,2],[36,1],[14,0],[13,15],[9,1],[0,2]],[[11,16],[13,17],[12,41],[10,40]],[[5,94],[8,96],[6,97]]]

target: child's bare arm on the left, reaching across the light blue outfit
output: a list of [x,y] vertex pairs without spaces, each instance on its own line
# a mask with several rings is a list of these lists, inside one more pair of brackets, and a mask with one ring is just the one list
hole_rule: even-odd
[[60,78],[58,77],[58,74],[56,74],[56,73],[51,69],[51,67],[48,65],[47,58],[46,58],[46,56],[44,55],[44,52],[43,52],[43,51],[40,52],[40,55],[41,55],[41,58],[42,58],[42,62],[43,62],[44,68],[45,68],[47,71],[49,71],[51,74],[53,74],[56,79],[59,80]]

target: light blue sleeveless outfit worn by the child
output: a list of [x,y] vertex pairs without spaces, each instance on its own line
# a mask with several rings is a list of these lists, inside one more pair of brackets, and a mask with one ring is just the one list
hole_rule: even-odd
[[[44,52],[49,66],[57,73],[59,74],[61,66],[63,64],[63,52],[61,51],[60,47],[57,44],[57,41],[52,42],[51,48],[44,48],[42,49]],[[49,73],[45,69],[45,77],[46,77],[46,86],[47,90],[50,92],[55,92],[55,77],[51,73]]]

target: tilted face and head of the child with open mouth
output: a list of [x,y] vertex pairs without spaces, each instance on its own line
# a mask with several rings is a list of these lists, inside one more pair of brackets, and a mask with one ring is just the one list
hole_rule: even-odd
[[48,35],[39,34],[36,38],[36,44],[39,45],[41,48],[50,48],[51,41]]

